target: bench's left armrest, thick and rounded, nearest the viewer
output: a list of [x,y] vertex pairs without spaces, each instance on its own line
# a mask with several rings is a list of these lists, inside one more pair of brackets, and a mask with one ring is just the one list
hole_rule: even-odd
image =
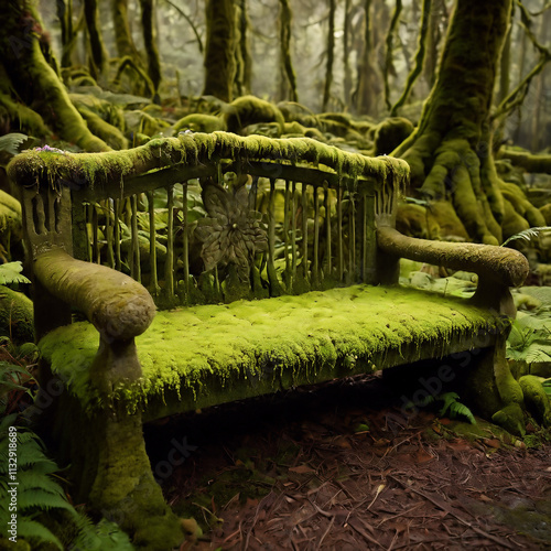
[[62,249],[39,255],[33,271],[51,294],[80,310],[107,342],[141,335],[155,315],[143,285],[105,266],[75,260]]

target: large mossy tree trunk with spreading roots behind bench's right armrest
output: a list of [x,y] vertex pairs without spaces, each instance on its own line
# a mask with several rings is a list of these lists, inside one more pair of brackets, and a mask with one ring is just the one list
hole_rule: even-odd
[[412,187],[450,201],[469,237],[487,244],[544,225],[494,164],[490,107],[510,10],[511,0],[457,0],[419,126],[392,153],[410,164]]

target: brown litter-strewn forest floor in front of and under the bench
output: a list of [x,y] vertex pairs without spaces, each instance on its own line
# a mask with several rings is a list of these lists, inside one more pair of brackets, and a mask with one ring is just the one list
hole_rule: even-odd
[[363,376],[149,428],[165,496],[203,528],[182,549],[551,549],[549,435],[402,403]]

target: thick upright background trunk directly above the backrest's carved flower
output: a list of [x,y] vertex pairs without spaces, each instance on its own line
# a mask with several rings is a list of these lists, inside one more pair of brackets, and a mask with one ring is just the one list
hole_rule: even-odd
[[205,96],[231,101],[236,72],[236,25],[233,0],[207,0],[205,45]]

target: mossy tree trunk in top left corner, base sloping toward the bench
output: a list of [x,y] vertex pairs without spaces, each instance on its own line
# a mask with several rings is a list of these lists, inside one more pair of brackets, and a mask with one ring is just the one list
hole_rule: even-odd
[[110,148],[71,102],[33,1],[0,2],[0,111],[7,131],[46,136],[47,128],[86,151]]

